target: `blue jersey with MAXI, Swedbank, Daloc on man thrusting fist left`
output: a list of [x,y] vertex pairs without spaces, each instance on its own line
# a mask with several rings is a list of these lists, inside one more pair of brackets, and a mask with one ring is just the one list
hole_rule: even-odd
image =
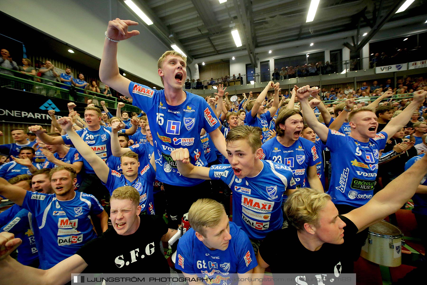
[[233,190],[233,221],[249,238],[262,240],[282,228],[282,195],[295,189],[292,170],[283,164],[261,160],[257,176],[237,178],[231,165],[212,165],[211,179],[221,179]]

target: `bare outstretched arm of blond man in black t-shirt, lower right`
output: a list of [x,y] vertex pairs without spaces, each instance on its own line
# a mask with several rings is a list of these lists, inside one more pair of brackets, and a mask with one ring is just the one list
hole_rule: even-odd
[[368,203],[344,216],[348,217],[361,232],[400,209],[415,194],[426,173],[427,155],[424,155],[408,170],[387,184],[383,190],[375,194]]

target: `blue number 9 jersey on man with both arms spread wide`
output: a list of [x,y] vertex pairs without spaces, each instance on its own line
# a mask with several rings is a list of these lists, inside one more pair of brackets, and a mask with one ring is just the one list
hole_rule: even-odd
[[326,146],[330,149],[332,175],[328,194],[334,204],[358,208],[372,198],[379,151],[384,149],[386,141],[385,132],[364,143],[329,129]]

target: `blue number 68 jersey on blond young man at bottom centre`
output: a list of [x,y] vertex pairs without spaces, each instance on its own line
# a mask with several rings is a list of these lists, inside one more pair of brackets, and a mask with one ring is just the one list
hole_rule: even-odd
[[[199,241],[193,228],[179,239],[175,268],[199,278],[213,279],[206,284],[237,284],[235,273],[246,273],[256,267],[254,249],[242,228],[230,222],[231,240],[226,250],[211,250]],[[230,277],[235,277],[236,282]]]

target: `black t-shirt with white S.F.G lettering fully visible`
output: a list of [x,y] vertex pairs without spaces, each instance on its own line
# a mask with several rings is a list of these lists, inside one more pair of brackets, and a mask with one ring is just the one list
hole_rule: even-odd
[[111,227],[77,251],[92,273],[170,273],[160,251],[167,224],[157,215],[139,217],[140,226],[132,235],[118,235]]

